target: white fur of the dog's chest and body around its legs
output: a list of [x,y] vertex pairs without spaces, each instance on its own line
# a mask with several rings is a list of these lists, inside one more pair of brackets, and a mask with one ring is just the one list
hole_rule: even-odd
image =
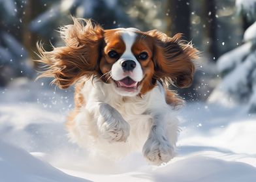
[[[120,158],[131,151],[141,150],[150,131],[154,117],[161,116],[160,135],[168,131],[167,140],[175,146],[177,138],[177,120],[173,116],[171,108],[165,102],[165,93],[161,85],[156,86],[146,95],[140,97],[123,97],[112,89],[112,86],[102,82],[87,81],[81,90],[86,104],[80,109],[74,118],[74,129],[70,132],[71,139],[85,148],[93,149],[102,155],[112,158]],[[129,136],[121,142],[108,142],[99,133],[97,121],[101,117],[97,105],[106,103],[117,110],[125,123],[129,124]],[[115,112],[110,115],[115,115]],[[157,131],[158,132],[158,131]]]

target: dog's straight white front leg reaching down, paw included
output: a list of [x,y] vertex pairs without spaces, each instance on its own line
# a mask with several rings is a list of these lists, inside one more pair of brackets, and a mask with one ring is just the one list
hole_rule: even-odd
[[144,157],[154,165],[168,162],[174,157],[174,147],[167,137],[167,120],[164,112],[153,114],[153,125],[142,149]]

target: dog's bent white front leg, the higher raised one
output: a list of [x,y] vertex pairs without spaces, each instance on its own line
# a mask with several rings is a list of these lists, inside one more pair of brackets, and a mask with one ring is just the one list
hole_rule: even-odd
[[127,123],[118,110],[107,103],[95,103],[94,114],[97,115],[99,135],[108,142],[125,142],[130,132]]

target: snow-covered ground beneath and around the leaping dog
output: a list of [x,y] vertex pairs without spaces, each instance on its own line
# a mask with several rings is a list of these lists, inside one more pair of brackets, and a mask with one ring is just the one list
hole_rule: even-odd
[[113,162],[69,143],[72,89],[47,85],[20,80],[0,90],[0,181],[256,181],[256,116],[246,107],[187,104],[177,156],[156,167],[141,153]]

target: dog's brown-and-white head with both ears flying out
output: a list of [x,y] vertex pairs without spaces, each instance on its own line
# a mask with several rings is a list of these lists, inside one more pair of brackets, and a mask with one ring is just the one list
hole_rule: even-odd
[[61,28],[63,47],[44,51],[39,45],[39,62],[48,66],[41,77],[67,88],[82,78],[96,76],[122,96],[136,96],[151,90],[162,79],[183,88],[191,85],[197,49],[153,30],[104,30],[86,19],[75,19]]

